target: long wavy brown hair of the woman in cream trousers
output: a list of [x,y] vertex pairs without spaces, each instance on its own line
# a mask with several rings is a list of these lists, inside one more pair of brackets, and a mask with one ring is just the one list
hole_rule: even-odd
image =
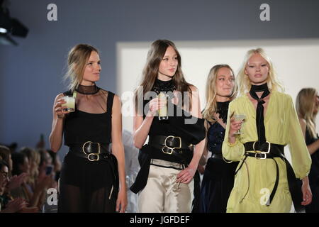
[[189,108],[191,109],[192,92],[190,87],[192,86],[192,84],[186,82],[184,74],[181,71],[181,55],[179,55],[179,52],[172,41],[156,40],[150,46],[150,50],[147,53],[147,61],[142,72],[142,82],[140,83],[140,86],[143,88],[143,92],[139,93],[138,89],[135,90],[135,111],[138,111],[138,100],[144,100],[143,97],[145,93],[150,92],[152,90],[152,87],[154,86],[155,80],[158,75],[159,64],[162,61],[165,52],[169,46],[175,50],[178,60],[177,70],[172,80],[176,85],[177,91],[181,92],[183,100],[184,92],[187,92],[187,94],[189,94]]

